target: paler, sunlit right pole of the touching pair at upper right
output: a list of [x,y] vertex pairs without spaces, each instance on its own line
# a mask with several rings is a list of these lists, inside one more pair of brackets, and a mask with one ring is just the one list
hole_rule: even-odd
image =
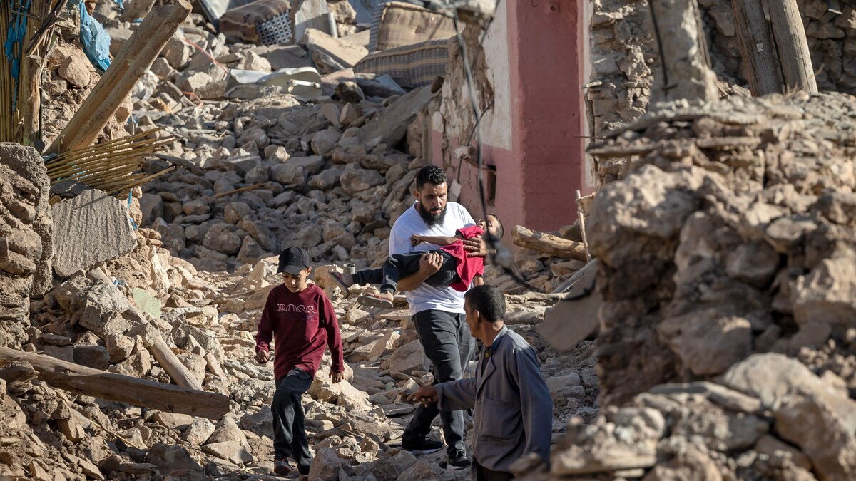
[[785,85],[788,89],[817,93],[811,53],[796,0],[767,0],[767,6],[776,47],[779,50],[779,60],[782,62]]

